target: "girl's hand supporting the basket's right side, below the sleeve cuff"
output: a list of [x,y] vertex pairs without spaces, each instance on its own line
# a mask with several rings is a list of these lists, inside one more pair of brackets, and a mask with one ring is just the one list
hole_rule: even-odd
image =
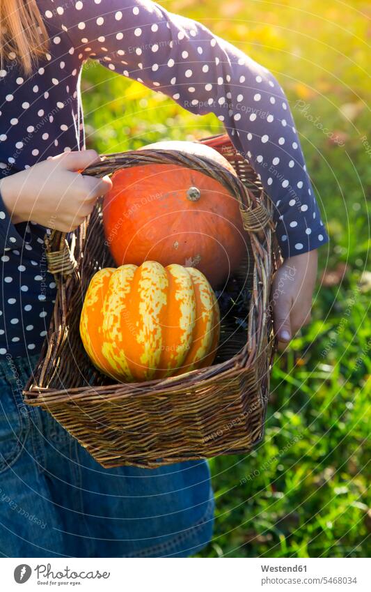
[[271,307],[280,351],[310,322],[316,277],[316,250],[285,259],[274,276]]

